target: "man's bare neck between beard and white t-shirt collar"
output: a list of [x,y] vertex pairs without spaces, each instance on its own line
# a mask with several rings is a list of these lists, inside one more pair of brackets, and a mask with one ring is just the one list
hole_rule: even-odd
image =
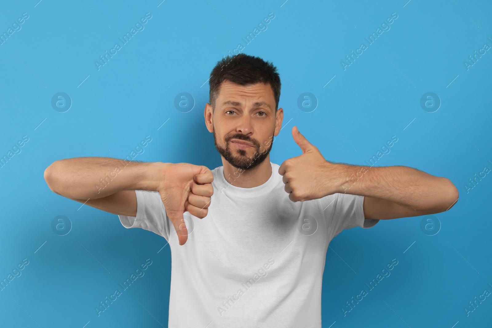
[[270,164],[270,154],[258,166],[244,172],[229,164],[223,157],[222,165],[224,167],[224,178],[226,181],[233,186],[241,188],[252,188],[262,185],[273,174],[272,165]]

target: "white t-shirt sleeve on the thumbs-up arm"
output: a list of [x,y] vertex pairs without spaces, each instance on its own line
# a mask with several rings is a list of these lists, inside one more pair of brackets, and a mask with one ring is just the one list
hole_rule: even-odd
[[379,220],[364,217],[364,196],[335,193],[321,198],[323,213],[330,235],[353,227],[371,228]]

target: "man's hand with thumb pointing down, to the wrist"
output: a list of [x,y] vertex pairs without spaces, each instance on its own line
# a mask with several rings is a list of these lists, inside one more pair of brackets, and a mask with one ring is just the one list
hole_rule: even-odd
[[188,163],[163,163],[161,172],[163,177],[159,177],[161,181],[157,191],[167,216],[178,233],[179,243],[183,245],[188,239],[183,213],[188,211],[200,219],[207,216],[211,196],[214,194],[214,176],[206,166]]

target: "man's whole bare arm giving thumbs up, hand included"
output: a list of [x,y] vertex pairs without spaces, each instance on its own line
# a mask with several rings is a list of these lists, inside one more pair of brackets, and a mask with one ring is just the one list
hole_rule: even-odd
[[292,136],[303,154],[285,160],[278,173],[293,202],[318,199],[335,193],[364,197],[367,219],[395,219],[443,212],[459,197],[447,178],[405,167],[353,166],[327,161],[297,126]]

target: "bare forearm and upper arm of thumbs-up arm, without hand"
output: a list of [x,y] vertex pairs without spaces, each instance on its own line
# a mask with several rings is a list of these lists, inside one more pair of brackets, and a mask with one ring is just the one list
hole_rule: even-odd
[[394,219],[439,213],[459,197],[447,178],[435,177],[405,166],[366,167],[337,165],[342,184],[338,192],[364,197],[367,219]]

